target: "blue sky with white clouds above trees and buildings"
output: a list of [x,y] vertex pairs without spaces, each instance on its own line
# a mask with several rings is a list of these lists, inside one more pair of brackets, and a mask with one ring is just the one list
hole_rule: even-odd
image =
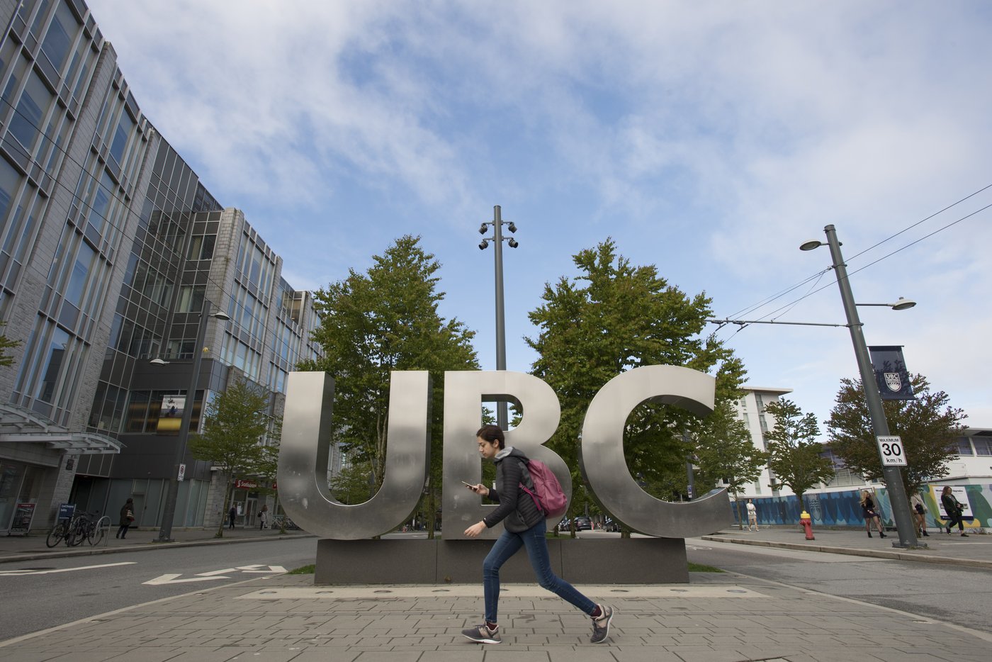
[[[992,6],[860,2],[88,0],[142,111],[301,290],[404,234],[441,314],[507,368],[572,256],[612,238],[719,319],[845,323],[992,427]],[[989,208],[986,208],[989,207]],[[491,233],[490,233],[491,234]],[[487,235],[489,236],[489,235]],[[754,387],[823,421],[856,377],[843,327],[711,325]]]

